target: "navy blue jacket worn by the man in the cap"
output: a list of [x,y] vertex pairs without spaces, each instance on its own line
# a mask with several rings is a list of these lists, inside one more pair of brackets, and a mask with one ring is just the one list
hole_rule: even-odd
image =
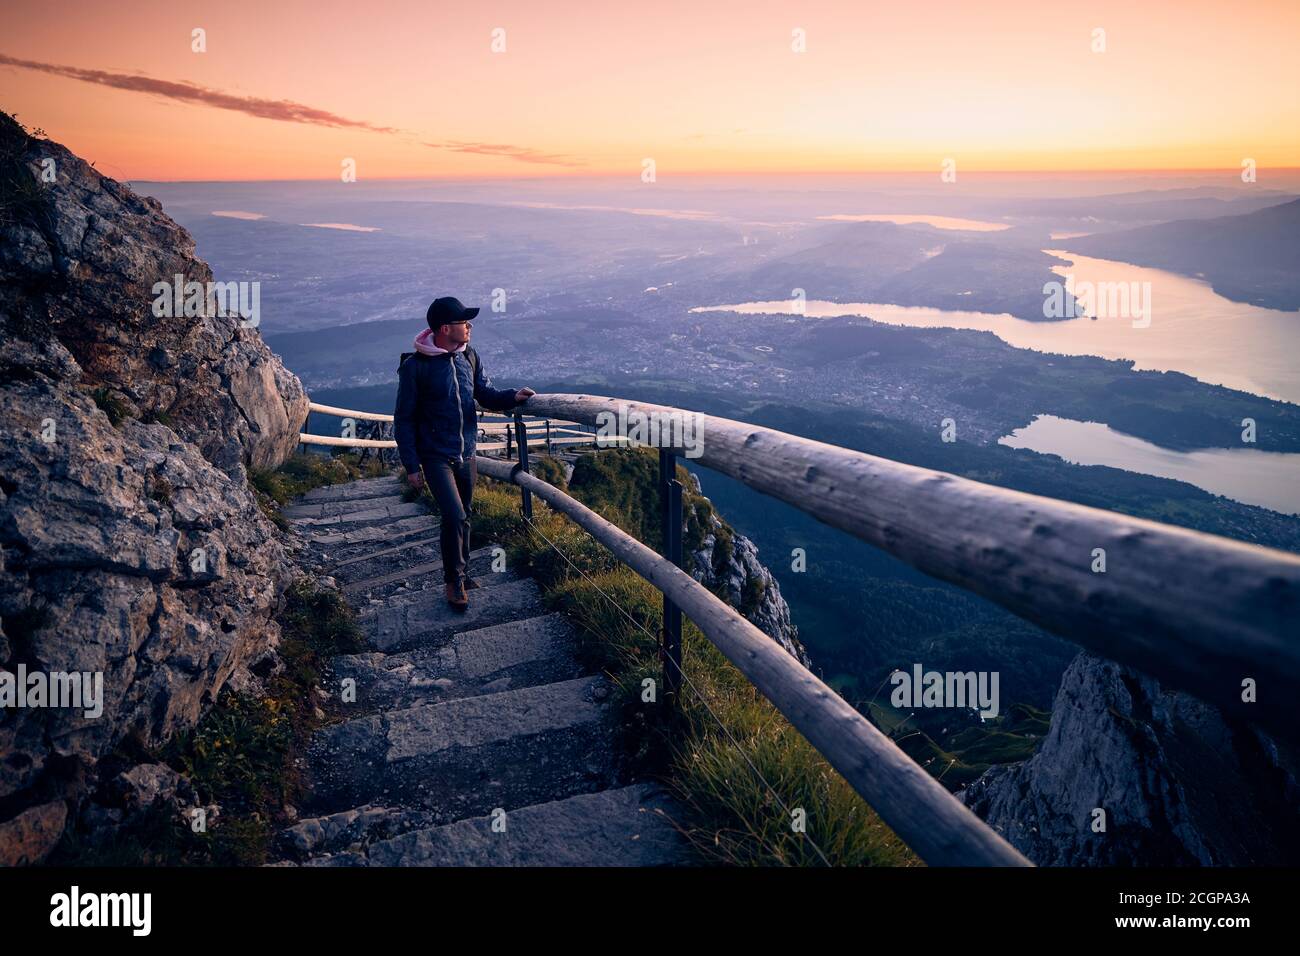
[[482,360],[472,363],[464,351],[442,355],[416,352],[398,369],[398,403],[393,432],[407,473],[420,462],[473,458],[478,437],[477,401],[490,411],[510,411],[520,405],[515,389],[494,389],[484,375]]

